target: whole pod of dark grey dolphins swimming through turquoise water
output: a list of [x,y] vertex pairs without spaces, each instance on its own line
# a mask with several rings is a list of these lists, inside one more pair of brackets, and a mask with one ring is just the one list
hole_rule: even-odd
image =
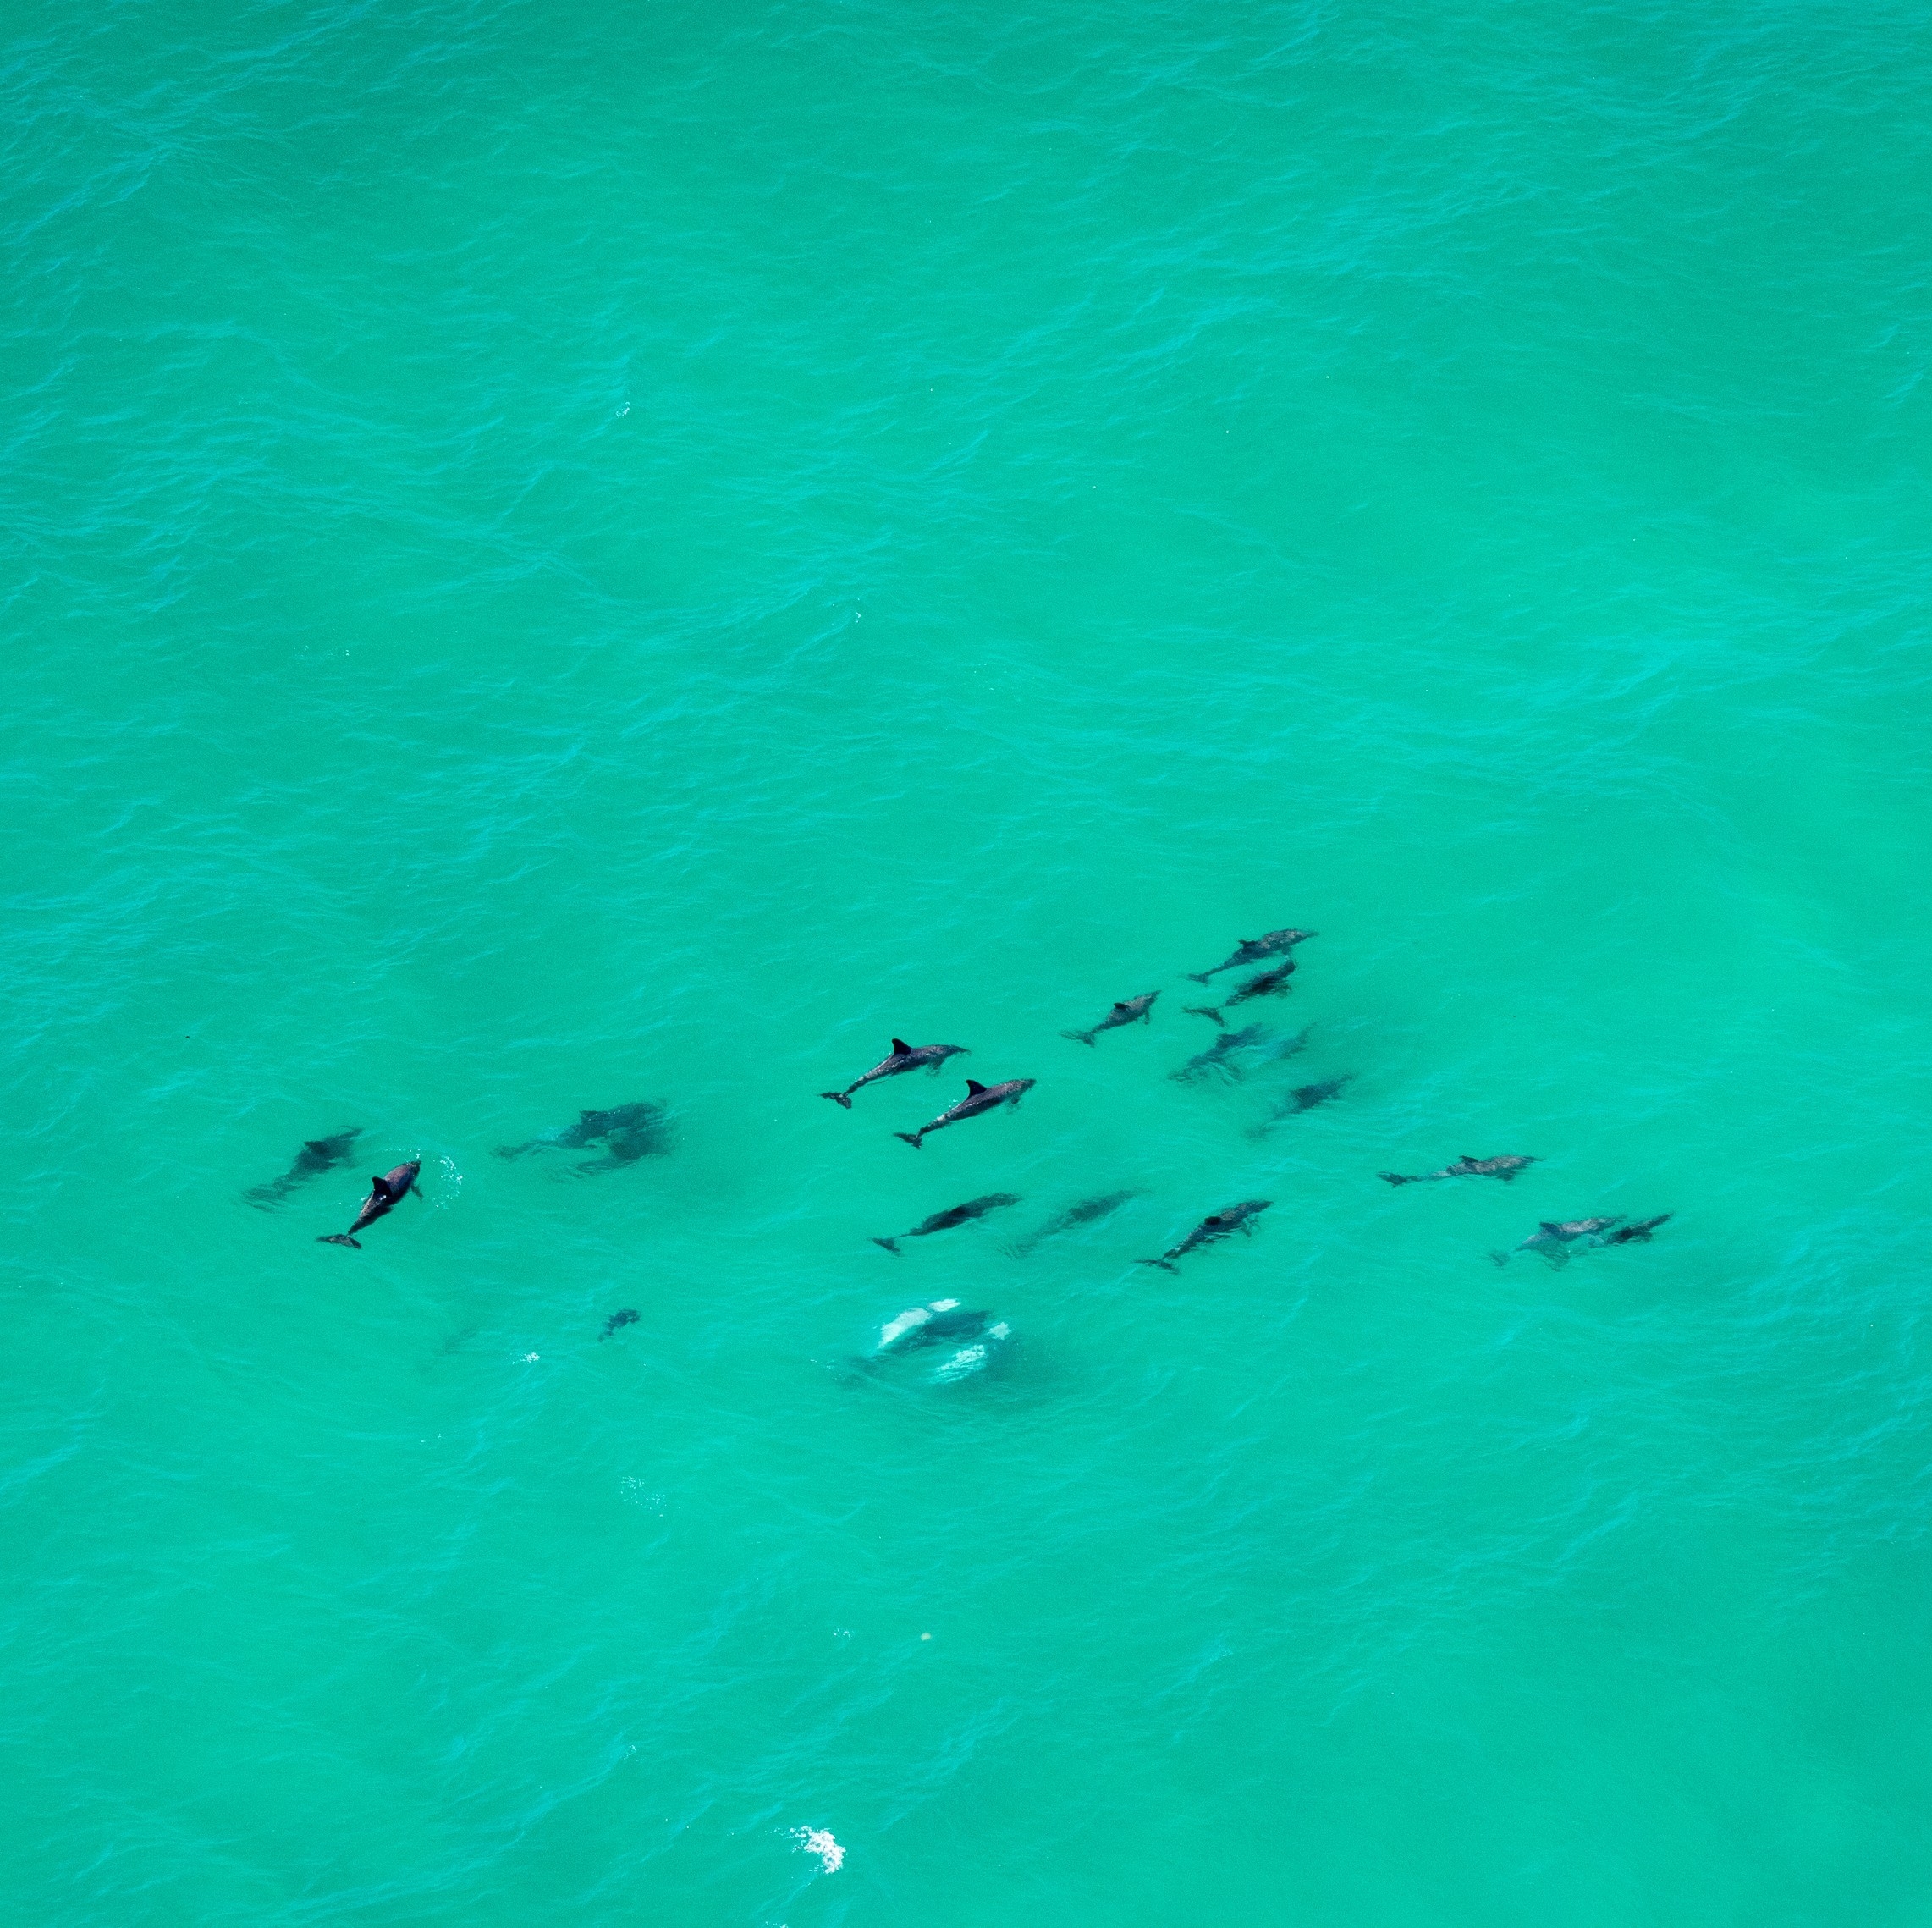
[[[1246,1024],[1240,1030],[1229,1030],[1223,1012],[1256,999],[1289,995],[1294,989],[1294,985],[1289,983],[1289,978],[1294,976],[1296,970],[1289,952],[1316,935],[1316,931],[1283,927],[1279,931],[1265,931],[1262,937],[1244,937],[1227,958],[1213,966],[1213,970],[1188,972],[1190,981],[1208,983],[1225,970],[1238,970],[1244,964],[1260,964],[1267,958],[1281,960],[1240,983],[1229,997],[1221,999],[1219,1005],[1186,1007],[1188,1016],[1209,1018],[1217,1035],[1206,1051],[1196,1053],[1171,1076],[1182,1084],[1198,1084],[1209,1078],[1223,1082],[1238,1080],[1246,1078],[1254,1070],[1279,1064],[1304,1051],[1310,1028],[1304,1028],[1294,1037],[1273,1035],[1262,1024]],[[1061,1035],[1072,1039],[1074,1043],[1094,1047],[1095,1041],[1107,1032],[1121,1030],[1130,1024],[1151,1024],[1153,1003],[1159,995],[1159,991],[1142,991],[1138,997],[1119,999],[1097,1024],[1084,1032],[1070,1030]],[[939,1076],[947,1059],[962,1055],[968,1055],[964,1045],[908,1045],[902,1037],[895,1037],[893,1049],[879,1059],[877,1064],[860,1072],[860,1076],[854,1078],[844,1090],[821,1092],[819,1095],[829,1097],[840,1109],[850,1111],[852,1095],[856,1092],[881,1084],[887,1078],[900,1078],[914,1070],[925,1070],[931,1076]],[[1264,1136],[1279,1120],[1310,1111],[1316,1105],[1329,1103],[1347,1090],[1352,1078],[1352,1072],[1343,1072],[1335,1078],[1296,1086],[1279,1099],[1275,1111],[1260,1126],[1256,1126],[1250,1136]],[[952,1124],[964,1124],[968,1119],[980,1119],[1003,1107],[1018,1105],[1020,1099],[1034,1090],[1036,1082],[1037,1080],[1034,1078],[1005,1078],[999,1084],[981,1084],[978,1078],[968,1078],[964,1097],[949,1105],[939,1113],[939,1117],[927,1120],[918,1130],[895,1132],[893,1136],[918,1151],[933,1132],[947,1130]],[[350,1165],[354,1161],[355,1140],[359,1136],[361,1132],[357,1126],[344,1126],[328,1138],[311,1138],[296,1153],[294,1163],[286,1173],[282,1173],[282,1177],[267,1184],[257,1184],[242,1196],[247,1204],[257,1205],[263,1211],[276,1209],[298,1186],[307,1184],[311,1178],[319,1178],[328,1171]],[[636,1163],[641,1157],[668,1151],[670,1132],[667,1107],[643,1101],[614,1105],[607,1111],[583,1111],[572,1124],[545,1132],[520,1146],[498,1146],[497,1151],[498,1157],[516,1159],[543,1149],[587,1149],[599,1146],[603,1155],[576,1165],[574,1169],[578,1173],[614,1171]],[[1497,1178],[1503,1184],[1513,1184],[1519,1177],[1522,1177],[1522,1173],[1528,1171],[1530,1165],[1536,1163],[1540,1161],[1520,1153],[1478,1157],[1466,1151],[1451,1165],[1443,1165],[1439,1171],[1383,1171],[1376,1177],[1383,1178],[1391,1186],[1435,1184],[1445,1178]],[[421,1200],[421,1159],[410,1159],[396,1165],[392,1171],[373,1177],[369,1180],[369,1194],[363,1198],[361,1207],[357,1209],[348,1231],[323,1233],[317,1242],[354,1246],[355,1250],[361,1250],[361,1240],[355,1236],[357,1233],[367,1231],[367,1227],[375,1225],[379,1219],[388,1217],[388,1213],[394,1211],[404,1198],[413,1196]],[[1138,1196],[1140,1194],[1136,1190],[1122,1190],[1082,1200],[1080,1204],[1061,1211],[1059,1217],[1036,1227],[1024,1238],[1009,1244],[1007,1252],[1014,1258],[1024,1258],[1043,1240],[1080,1225],[1097,1223]],[[1014,1192],[989,1192],[981,1198],[970,1198],[964,1204],[949,1205],[943,1211],[933,1211],[918,1225],[908,1227],[902,1233],[873,1238],[873,1244],[900,1256],[902,1238],[929,1238],[935,1233],[952,1231],[960,1225],[972,1225],[989,1213],[1005,1211],[1016,1204],[1020,1204],[1020,1198]],[[1159,1258],[1144,1258],[1136,1260],[1136,1263],[1153,1265],[1169,1273],[1179,1271],[1177,1262],[1192,1252],[1200,1252],[1206,1246],[1233,1238],[1236,1233],[1242,1238],[1252,1238],[1256,1233],[1256,1221],[1269,1209],[1269,1205],[1271,1200],[1265,1198],[1244,1198],[1238,1204],[1223,1205],[1219,1211],[1209,1211],[1190,1233],[1186,1233],[1186,1236],[1169,1246],[1169,1250]],[[1669,1221],[1669,1211],[1662,1211],[1656,1217],[1636,1221],[1629,1221],[1623,1215],[1542,1219],[1536,1231],[1532,1231],[1517,1246],[1507,1252],[1492,1252],[1490,1258],[1497,1265],[1507,1265],[1515,1254],[1530,1252],[1544,1258],[1549,1265],[1561,1267],[1569,1263],[1573,1252],[1625,1244],[1648,1244],[1658,1227]],[[611,1339],[624,1325],[634,1325],[636,1321],[638,1314],[634,1310],[626,1308],[616,1312],[605,1323],[599,1339]],[[891,1319],[879,1333],[879,1341],[873,1347],[867,1364],[891,1362],[904,1356],[923,1354],[929,1348],[952,1347],[952,1350],[931,1370],[931,1379],[945,1383],[981,1370],[1009,1337],[1010,1327],[1005,1321],[995,1319],[991,1312],[976,1312],[962,1306],[956,1298],[935,1298],[925,1306],[914,1306]]]

